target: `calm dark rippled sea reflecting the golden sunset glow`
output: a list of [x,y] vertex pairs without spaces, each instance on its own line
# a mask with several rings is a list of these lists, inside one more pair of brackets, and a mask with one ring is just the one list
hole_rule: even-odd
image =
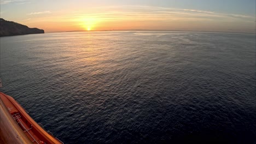
[[1,38],[0,90],[65,143],[255,143],[255,34]]

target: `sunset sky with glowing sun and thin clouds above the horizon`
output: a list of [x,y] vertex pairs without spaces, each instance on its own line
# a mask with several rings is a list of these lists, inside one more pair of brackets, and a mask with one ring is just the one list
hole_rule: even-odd
[[0,17],[47,32],[256,33],[256,0],[0,0]]

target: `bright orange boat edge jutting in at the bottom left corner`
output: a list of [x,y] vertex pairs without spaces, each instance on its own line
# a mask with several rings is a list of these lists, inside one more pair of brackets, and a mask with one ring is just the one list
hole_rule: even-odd
[[[16,127],[16,125],[14,126],[23,131],[23,133],[26,135],[24,139],[29,139],[31,143],[38,144],[63,143],[54,137],[49,131],[45,131],[37,122],[34,121],[33,118],[28,115],[26,110],[9,95],[0,92],[0,105],[4,105],[2,107],[5,107],[5,110],[9,112],[9,115],[12,117],[10,118],[10,121],[14,121],[13,124],[16,123],[16,125],[19,125],[18,127]],[[0,121],[2,121],[1,117]],[[2,133],[4,133],[4,131],[2,131]]]

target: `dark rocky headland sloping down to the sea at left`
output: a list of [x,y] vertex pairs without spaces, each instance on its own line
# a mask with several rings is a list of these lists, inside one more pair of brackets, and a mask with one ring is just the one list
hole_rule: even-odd
[[20,23],[6,21],[0,18],[0,37],[44,33],[43,29],[29,28]]

